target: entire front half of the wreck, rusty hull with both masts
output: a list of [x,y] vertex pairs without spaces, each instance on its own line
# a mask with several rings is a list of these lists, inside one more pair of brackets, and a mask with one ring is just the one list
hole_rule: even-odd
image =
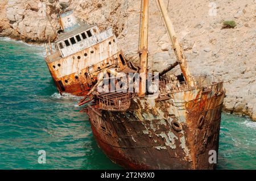
[[[139,92],[125,91],[127,87],[122,91],[99,92],[93,87],[89,92],[93,95],[92,104],[84,111],[100,148],[113,162],[126,169],[214,169],[216,163],[209,162],[209,153],[218,153],[225,96],[223,82],[192,76],[162,0],[158,0],[158,6],[177,61],[161,71],[159,78],[154,73],[151,77],[139,78]],[[136,73],[148,73],[147,33],[148,0],[142,0],[141,66],[130,68]],[[170,74],[177,65],[181,74]],[[115,70],[106,73],[110,78],[127,74]],[[115,83],[120,80],[117,78]],[[151,86],[155,87],[154,94],[147,89],[148,80],[154,82]],[[127,85],[130,83],[133,82],[128,80]],[[82,99],[80,104],[84,101]]]

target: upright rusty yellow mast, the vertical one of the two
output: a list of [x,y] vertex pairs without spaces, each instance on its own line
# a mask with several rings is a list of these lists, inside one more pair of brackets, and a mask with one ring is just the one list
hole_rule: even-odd
[[139,95],[142,96],[146,92],[147,80],[147,61],[148,61],[148,0],[142,0],[141,30],[139,33],[139,57],[141,61],[140,74],[141,83],[139,87]]

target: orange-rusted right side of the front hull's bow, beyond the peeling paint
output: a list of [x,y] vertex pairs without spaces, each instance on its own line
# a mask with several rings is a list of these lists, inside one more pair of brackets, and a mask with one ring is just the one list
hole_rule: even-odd
[[192,169],[216,168],[224,96],[225,90],[220,82],[201,89],[196,99],[185,103],[184,132],[190,149]]

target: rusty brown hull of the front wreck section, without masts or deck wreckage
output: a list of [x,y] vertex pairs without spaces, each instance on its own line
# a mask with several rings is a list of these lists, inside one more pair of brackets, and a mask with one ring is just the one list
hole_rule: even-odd
[[[214,169],[218,152],[223,83],[131,99],[129,110],[86,108],[94,138],[126,169]],[[162,96],[162,98],[160,98]],[[159,99],[160,98],[160,99]]]

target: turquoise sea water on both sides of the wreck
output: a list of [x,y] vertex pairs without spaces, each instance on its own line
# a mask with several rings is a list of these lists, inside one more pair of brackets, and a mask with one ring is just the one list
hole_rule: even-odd
[[[0,169],[121,169],[98,148],[80,98],[57,93],[43,47],[1,38],[0,63]],[[255,169],[255,139],[256,123],[223,113],[218,169]]]

